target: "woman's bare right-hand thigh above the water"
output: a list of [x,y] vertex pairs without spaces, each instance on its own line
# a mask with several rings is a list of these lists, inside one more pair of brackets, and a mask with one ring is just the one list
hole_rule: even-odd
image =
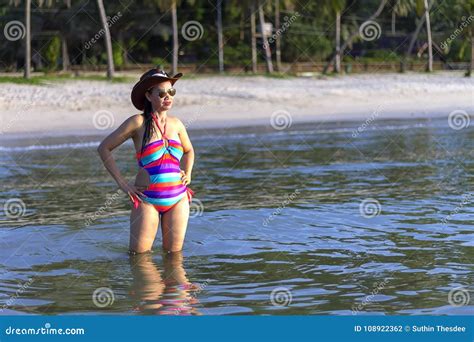
[[163,248],[166,251],[177,252],[183,249],[188,219],[189,202],[187,196],[183,196],[173,208],[161,215],[161,234]]

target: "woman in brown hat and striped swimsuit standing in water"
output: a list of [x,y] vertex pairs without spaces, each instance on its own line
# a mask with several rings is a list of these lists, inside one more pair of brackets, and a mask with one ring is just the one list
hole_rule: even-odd
[[[193,195],[188,185],[194,150],[183,123],[168,114],[176,94],[173,86],[181,76],[169,77],[158,69],[144,73],[131,96],[143,113],[125,120],[98,148],[106,169],[133,203],[130,253],[151,250],[160,221],[163,248],[168,252],[183,248]],[[112,156],[112,150],[129,138],[140,166],[134,185],[121,176]]]

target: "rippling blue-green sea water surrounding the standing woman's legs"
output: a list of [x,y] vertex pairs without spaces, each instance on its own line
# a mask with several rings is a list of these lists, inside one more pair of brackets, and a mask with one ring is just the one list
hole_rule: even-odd
[[[2,140],[0,313],[472,314],[474,129],[357,127],[191,131],[196,201],[170,255],[161,234],[126,254],[100,137]],[[131,144],[114,155],[132,179]]]

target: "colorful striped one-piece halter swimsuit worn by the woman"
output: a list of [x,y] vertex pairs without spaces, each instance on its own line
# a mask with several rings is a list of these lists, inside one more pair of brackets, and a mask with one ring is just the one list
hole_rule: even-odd
[[[147,170],[150,176],[150,184],[143,191],[146,197],[142,197],[142,199],[152,204],[162,214],[170,210],[186,195],[188,201],[191,202],[194,192],[181,181],[179,167],[183,156],[181,142],[168,139],[166,123],[165,132],[161,132],[158,120],[153,114],[152,117],[160,130],[161,140],[147,144],[143,152],[138,152],[136,156],[138,165]],[[165,139],[168,142],[167,145],[165,145]],[[135,205],[137,206],[137,204]]]

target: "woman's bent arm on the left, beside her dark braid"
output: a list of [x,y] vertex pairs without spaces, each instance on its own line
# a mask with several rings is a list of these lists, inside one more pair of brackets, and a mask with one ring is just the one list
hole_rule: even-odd
[[120,171],[115,163],[112,156],[112,151],[123,144],[126,140],[133,137],[136,134],[138,128],[143,124],[143,117],[140,114],[133,115],[125,120],[120,127],[110,133],[99,145],[97,152],[102,159],[105,168],[117,182],[120,189],[128,194],[130,200],[133,202],[133,195],[142,201],[140,196],[144,196],[135,186],[129,185],[128,182],[122,177]]

